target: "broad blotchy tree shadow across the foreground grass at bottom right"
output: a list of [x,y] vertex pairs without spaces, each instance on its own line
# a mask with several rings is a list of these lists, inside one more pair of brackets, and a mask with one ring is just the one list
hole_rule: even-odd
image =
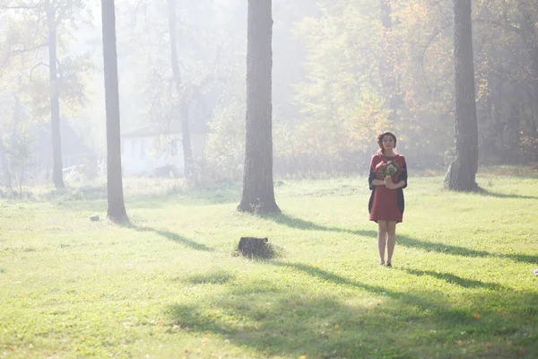
[[[255,284],[234,282],[230,285],[230,293],[222,293],[207,302],[171,305],[170,326],[179,325],[204,335],[213,333],[216,337],[238,346],[247,346],[267,357],[308,355],[331,358],[429,357],[438,353],[439,346],[444,347],[447,357],[457,357],[461,355],[462,346],[457,345],[456,340],[462,338],[463,333],[466,333],[464,346],[475,346],[474,340],[471,344],[468,338],[476,336],[478,342],[475,347],[479,347],[481,340],[493,338],[491,333],[496,326],[504,326],[510,333],[516,333],[521,328],[521,323],[514,324],[512,317],[499,317],[500,322],[497,320],[495,323],[476,320],[473,311],[467,306],[451,304],[444,293],[428,292],[422,288],[416,288],[412,293],[398,292],[380,285],[360,283],[303,263],[265,263],[307,274],[321,282],[311,285],[319,290],[304,293],[299,289],[295,292],[292,289],[294,285],[282,285],[268,279]],[[456,285],[476,284],[464,278],[458,280]],[[394,302],[347,305],[338,294],[332,294],[331,286],[327,284],[386,295]],[[490,284],[482,286],[497,288]],[[240,287],[244,289],[239,290]],[[522,293],[505,293],[500,299],[503,301],[499,303],[503,305],[501,308],[515,309],[519,304],[531,305],[536,302],[534,293],[524,293],[523,296]],[[490,294],[471,294],[469,301],[482,302],[481,295]],[[533,319],[528,320],[532,323]],[[431,328],[437,328],[438,334],[431,334],[435,332]],[[452,346],[450,343],[453,343]],[[480,350],[485,353],[483,344]],[[505,355],[500,357],[509,357],[508,346],[495,350]]]

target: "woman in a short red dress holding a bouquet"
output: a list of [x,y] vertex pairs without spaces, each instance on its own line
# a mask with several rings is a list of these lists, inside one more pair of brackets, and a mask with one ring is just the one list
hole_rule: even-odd
[[[377,136],[379,151],[372,157],[369,171],[369,220],[378,225],[377,246],[381,265],[392,267],[395,251],[396,223],[402,222],[404,215],[404,191],[407,187],[407,166],[404,156],[395,153],[396,136],[385,132]],[[390,164],[390,166],[388,166]],[[392,175],[383,176],[386,168],[395,170]],[[386,249],[386,262],[385,262]]]

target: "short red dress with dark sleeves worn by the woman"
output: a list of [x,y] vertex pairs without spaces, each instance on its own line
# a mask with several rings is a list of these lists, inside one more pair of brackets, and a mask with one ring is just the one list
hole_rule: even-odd
[[[381,162],[394,161],[399,171],[392,175],[394,183],[401,180],[405,181],[404,187],[396,189],[388,189],[386,186],[374,186],[373,180],[385,180],[385,177],[377,173],[377,165]],[[407,187],[407,165],[404,156],[396,154],[392,157],[387,157],[381,153],[377,153],[372,157],[369,169],[369,188],[372,193],[369,198],[369,220],[374,221],[395,221],[402,222],[404,215],[404,188]]]

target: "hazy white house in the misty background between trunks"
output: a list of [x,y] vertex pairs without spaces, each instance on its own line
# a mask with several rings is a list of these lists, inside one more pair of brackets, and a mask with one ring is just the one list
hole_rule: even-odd
[[[205,133],[191,127],[193,157],[204,153]],[[181,124],[152,124],[121,135],[124,176],[168,177],[185,174]]]

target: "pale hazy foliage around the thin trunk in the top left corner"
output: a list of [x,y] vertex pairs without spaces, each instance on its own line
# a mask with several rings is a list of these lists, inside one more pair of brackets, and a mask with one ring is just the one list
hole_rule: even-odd
[[[90,13],[82,0],[49,2],[39,0],[25,4],[0,2],[6,17],[8,37],[4,39],[4,56],[10,59],[10,70],[20,79],[16,91],[33,111],[33,118],[45,118],[50,109],[48,74],[48,31],[46,13],[53,13],[56,27],[57,86],[64,113],[75,117],[85,101],[85,83],[92,64],[88,54],[76,54],[78,24],[90,22]],[[39,29],[39,31],[36,31]],[[52,30],[54,31],[54,29]]]

